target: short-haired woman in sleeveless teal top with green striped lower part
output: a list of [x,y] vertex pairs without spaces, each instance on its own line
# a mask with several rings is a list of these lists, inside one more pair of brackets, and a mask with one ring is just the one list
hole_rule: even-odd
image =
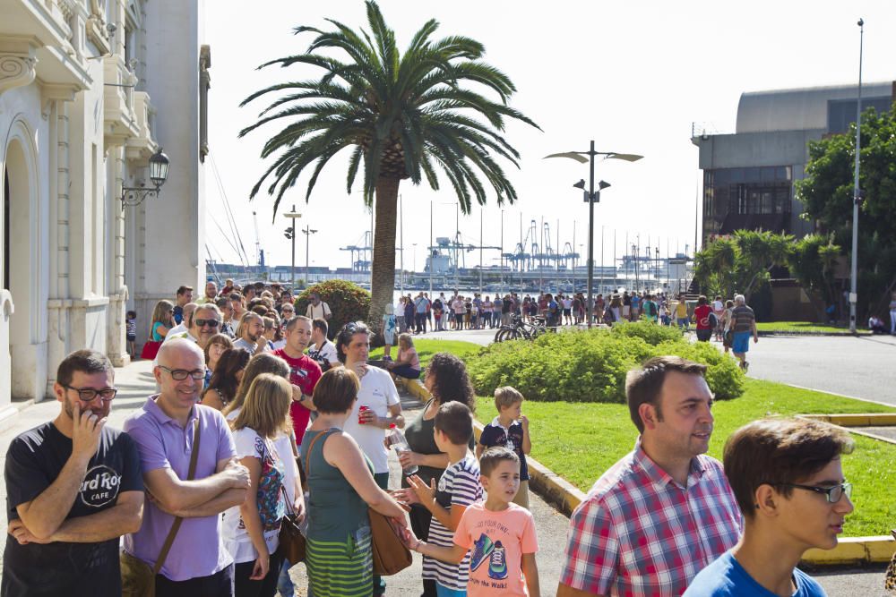
[[407,527],[404,510],[374,481],[373,468],[358,442],[342,432],[358,400],[355,371],[338,367],[314,388],[317,419],[302,440],[307,473],[308,593],[369,597],[373,593],[373,551],[367,508]]

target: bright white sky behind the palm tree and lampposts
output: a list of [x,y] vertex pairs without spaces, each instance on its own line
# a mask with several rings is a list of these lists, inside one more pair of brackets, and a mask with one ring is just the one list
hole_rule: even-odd
[[[211,160],[206,160],[211,255],[240,262],[233,248],[237,241],[218,228],[229,230],[226,195],[251,262],[256,260],[254,211],[266,262],[289,265],[291,245],[283,235],[289,222],[282,213],[295,204],[302,214],[298,225],[318,230],[309,243],[310,264],[349,267],[350,253],[340,248],[363,244],[370,228],[359,184],[352,194],[346,192],[349,150],[324,168],[306,203],[309,167],[275,217],[273,199],[266,193],[251,202],[248,198],[271,163],[271,158],[260,158],[263,143],[280,126],[268,124],[243,139],[237,133],[267,105],[258,99],[239,107],[246,96],[277,82],[320,76],[321,71],[305,65],[256,70],[263,62],[306,51],[314,35],[293,35],[293,27],[328,30],[332,26],[325,19],[330,18],[367,29],[364,3],[265,0],[246,10],[244,2],[215,0],[206,7],[203,43],[211,45],[212,62]],[[534,235],[547,246],[547,239],[542,243],[543,221],[552,247],[584,255],[588,206],[572,185],[587,181],[588,165],[544,157],[587,150],[592,140],[599,151],[644,156],[634,163],[597,164],[596,180],[612,186],[595,206],[596,262],[611,264],[614,251],[620,258],[626,238],[628,246],[639,243],[642,252],[647,246],[651,253],[659,247],[661,255],[667,247],[672,254],[693,252],[701,175],[692,124],[734,132],[737,103],[747,91],[855,83],[859,17],[865,20],[863,81],[896,80],[896,3],[888,0],[381,0],[380,7],[402,49],[430,18],[440,22],[434,38],[464,35],[484,44],[484,61],[517,87],[510,105],[541,128],[510,123],[505,131],[505,139],[521,153],[519,169],[502,163],[519,199],[498,206],[491,192],[486,206],[474,204],[469,216],[461,214],[460,226],[455,226],[457,200],[444,177],[439,192],[425,181],[420,186],[401,183],[403,241],[400,233],[396,246],[403,243],[405,269],[416,264],[418,271],[431,243],[431,220],[433,239],[452,237],[459,228],[463,243],[474,246],[502,246],[503,229],[504,252],[513,252],[521,235],[528,236],[527,245]],[[536,232],[529,234],[532,220]],[[461,265],[477,266],[479,253],[467,252]],[[305,235],[298,235],[296,260],[304,267]],[[498,264],[499,251],[483,250],[482,260],[485,267]],[[397,266],[399,262],[397,257]]]

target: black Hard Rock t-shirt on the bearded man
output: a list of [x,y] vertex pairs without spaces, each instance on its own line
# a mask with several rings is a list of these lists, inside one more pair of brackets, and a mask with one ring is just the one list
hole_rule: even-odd
[[[72,455],[72,439],[52,422],[13,439],[6,453],[6,516],[19,517],[16,507],[37,498],[62,471]],[[104,427],[97,453],[90,458],[81,490],[66,520],[90,516],[116,505],[122,491],[142,491],[140,453],[124,431]],[[97,543],[54,542],[20,545],[6,535],[4,597],[119,595],[121,569],[118,538]]]

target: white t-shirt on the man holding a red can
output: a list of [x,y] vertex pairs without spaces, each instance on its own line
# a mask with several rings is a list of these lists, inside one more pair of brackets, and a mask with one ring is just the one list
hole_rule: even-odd
[[342,431],[348,433],[361,451],[364,452],[374,465],[374,473],[388,473],[388,457],[383,446],[386,431],[375,425],[358,424],[358,409],[366,406],[376,416],[384,417],[389,414],[389,407],[400,404],[398,390],[389,373],[376,367],[368,367],[364,377],[361,378],[361,388],[358,390],[358,400],[352,407],[349,418],[342,426]]

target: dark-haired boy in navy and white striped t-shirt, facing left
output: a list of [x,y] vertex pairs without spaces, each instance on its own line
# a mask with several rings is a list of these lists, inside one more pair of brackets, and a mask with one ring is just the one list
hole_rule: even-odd
[[[479,463],[470,454],[468,445],[473,437],[473,416],[460,402],[449,402],[439,407],[433,422],[433,436],[439,451],[448,455],[448,468],[439,478],[427,485],[418,475],[408,478],[409,489],[399,490],[409,504],[422,504],[433,515],[428,541],[446,549],[453,545],[454,532],[461,523],[467,507],[482,500],[479,484]],[[429,556],[423,557],[424,583],[437,584],[436,594],[465,595],[470,576],[470,556],[460,564],[449,564]]]

